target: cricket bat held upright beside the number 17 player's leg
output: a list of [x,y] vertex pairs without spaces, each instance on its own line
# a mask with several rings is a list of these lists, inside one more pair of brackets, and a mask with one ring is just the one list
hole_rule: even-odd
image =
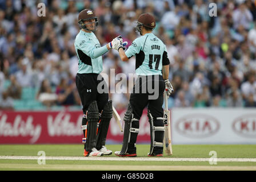
[[163,111],[163,118],[165,118],[165,137],[164,137],[164,144],[165,144],[165,154],[166,155],[173,155],[173,149],[171,148],[171,123],[170,123],[170,111],[168,110],[168,96],[165,91],[165,111]]

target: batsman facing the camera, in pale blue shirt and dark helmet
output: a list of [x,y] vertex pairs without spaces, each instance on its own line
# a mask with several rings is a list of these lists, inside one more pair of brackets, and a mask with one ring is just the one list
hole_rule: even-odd
[[[82,130],[84,156],[110,155],[112,151],[105,147],[107,130],[112,118],[112,101],[102,72],[102,55],[111,48],[118,50],[127,43],[122,43],[119,36],[101,47],[94,34],[98,26],[98,17],[93,10],[82,10],[78,15],[81,30],[75,38],[75,51],[78,56],[78,72],[75,77],[78,93],[83,105]],[[99,88],[105,92],[99,92]]]

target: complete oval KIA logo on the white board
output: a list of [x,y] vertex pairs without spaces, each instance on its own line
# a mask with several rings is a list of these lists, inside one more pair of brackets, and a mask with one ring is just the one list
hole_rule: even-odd
[[178,119],[175,128],[186,137],[205,138],[217,133],[219,122],[211,115],[189,114]]

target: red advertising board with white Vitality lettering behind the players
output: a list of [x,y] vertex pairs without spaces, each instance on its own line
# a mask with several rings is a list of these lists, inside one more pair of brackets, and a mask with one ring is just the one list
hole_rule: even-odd
[[[121,118],[125,110],[118,111]],[[82,111],[0,111],[0,144],[82,143]],[[124,123],[122,123],[124,126]],[[150,127],[143,112],[137,143],[150,142]],[[119,143],[123,133],[114,118],[107,143]]]

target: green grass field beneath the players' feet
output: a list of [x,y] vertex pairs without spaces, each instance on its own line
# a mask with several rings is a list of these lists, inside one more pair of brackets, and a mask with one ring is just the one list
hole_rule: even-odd
[[[113,151],[121,150],[121,145],[107,145]],[[173,145],[173,155],[163,156],[161,161],[148,161],[149,145],[137,144],[137,158],[123,160],[114,154],[104,156],[105,160],[87,160],[83,158],[82,144],[31,144],[0,145],[0,156],[34,156],[36,159],[0,159],[0,170],[107,170],[107,171],[151,171],[151,170],[255,170],[256,162],[219,162],[220,158],[253,158],[256,159],[256,145]],[[45,151],[47,156],[82,157],[82,160],[48,160],[39,165],[38,151]],[[211,165],[207,160],[210,151],[217,152],[217,164]],[[99,157],[102,158],[102,157]],[[97,158],[97,159],[99,159]],[[106,158],[109,158],[106,159]],[[112,160],[112,159],[115,160]],[[137,161],[136,159],[143,158]],[[201,161],[162,161],[170,158],[208,158]],[[90,158],[91,159],[91,158]],[[95,158],[94,158],[95,159]],[[102,158],[103,159],[103,158]],[[118,160],[117,160],[118,159]],[[144,160],[145,159],[145,160]],[[152,159],[152,158],[150,158]]]

